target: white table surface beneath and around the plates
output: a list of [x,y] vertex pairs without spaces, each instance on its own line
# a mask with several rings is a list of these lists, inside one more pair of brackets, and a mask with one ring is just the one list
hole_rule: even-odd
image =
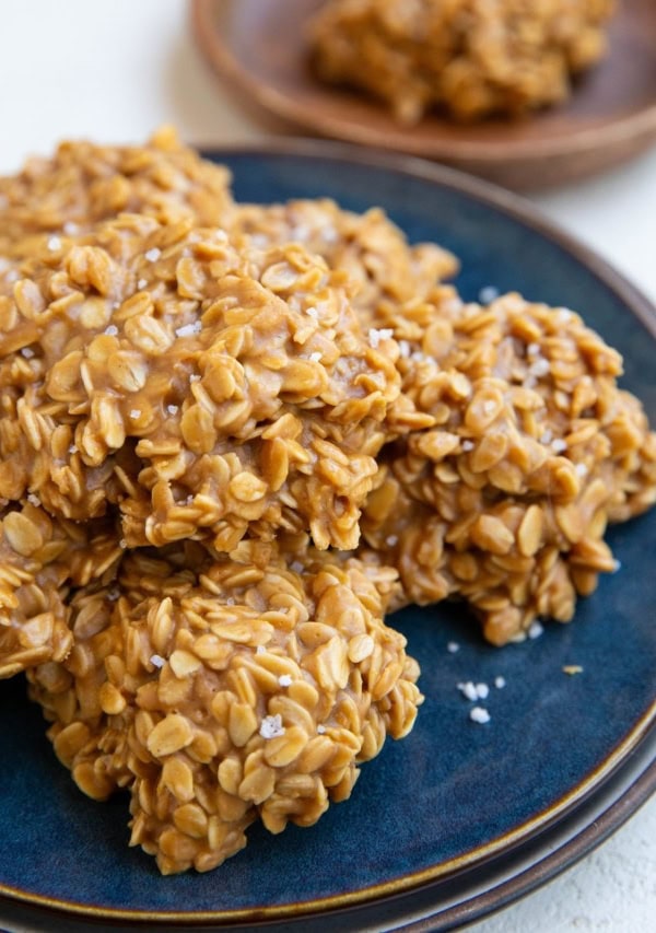
[[[0,173],[63,137],[141,141],[162,123],[199,144],[261,138],[200,59],[186,13],[184,0],[3,0]],[[534,200],[656,300],[656,151]],[[470,930],[656,930],[656,798],[574,868]]]

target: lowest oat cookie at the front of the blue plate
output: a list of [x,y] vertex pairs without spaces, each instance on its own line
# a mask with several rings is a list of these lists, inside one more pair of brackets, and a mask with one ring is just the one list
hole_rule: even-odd
[[69,657],[31,673],[59,758],[92,797],[130,789],[131,843],[164,874],[215,867],[257,816],[314,824],[422,701],[356,561],[194,547],[133,552],[116,586],[81,591]]

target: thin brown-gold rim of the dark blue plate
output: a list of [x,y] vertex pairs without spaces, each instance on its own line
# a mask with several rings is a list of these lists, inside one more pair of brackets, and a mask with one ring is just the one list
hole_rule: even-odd
[[[412,155],[399,153],[379,153],[375,150],[367,150],[363,147],[353,145],[352,143],[312,140],[303,138],[276,138],[263,139],[260,141],[248,143],[218,144],[199,147],[201,154],[220,161],[223,158],[239,158],[239,156],[260,156],[260,158],[301,158],[306,160],[323,160],[338,163],[352,164],[356,166],[374,166],[382,170],[390,171],[396,174],[408,175],[412,178],[427,182],[429,184],[446,187],[456,190],[459,194],[466,195],[488,207],[508,215],[515,221],[518,221],[529,229],[537,232],[543,238],[554,243],[563,248],[570,256],[576,259],[584,268],[600,280],[616,298],[626,306],[626,310],[637,317],[645,326],[654,340],[656,340],[656,305],[635,285],[633,285],[623,273],[619,272],[611,263],[608,263],[599,254],[590,247],[584,245],[577,237],[562,229],[558,223],[553,222],[536,206],[530,203],[525,198],[505,190],[492,183],[467,175],[458,170],[438,165],[423,159]],[[495,839],[490,840],[483,845],[471,850],[465,855],[448,860],[441,863],[438,866],[431,866],[419,872],[410,872],[397,876],[393,880],[382,882],[377,885],[370,885],[366,888],[359,890],[347,891],[341,895],[332,895],[324,898],[315,898],[307,901],[298,901],[279,906],[260,906],[250,908],[239,908],[234,910],[176,910],[162,911],[157,909],[122,909],[112,907],[99,907],[95,905],[85,905],[75,901],[69,901],[62,898],[55,898],[45,895],[38,895],[31,891],[25,891],[20,888],[14,888],[10,885],[0,883],[0,897],[8,900],[34,906],[45,907],[55,910],[59,913],[75,914],[78,917],[90,918],[95,920],[131,920],[136,922],[156,922],[162,925],[173,923],[219,923],[225,926],[227,923],[243,923],[245,921],[277,921],[277,920],[298,920],[302,918],[318,919],[321,913],[333,910],[343,910],[353,907],[367,907],[386,898],[391,898],[397,895],[409,894],[413,889],[420,887],[438,885],[441,880],[450,877],[465,875],[467,872],[473,872],[484,866],[485,863],[493,859],[507,853],[513,848],[529,842],[537,838],[540,833],[554,827],[569,815],[576,812],[577,807],[582,806],[587,800],[593,797],[612,779],[614,774],[626,765],[631,756],[636,753],[647,739],[656,732],[656,697],[647,707],[643,714],[635,721],[628,733],[616,745],[611,753],[602,760],[602,762],[593,769],[586,777],[567,793],[563,794],[558,801],[542,809],[539,814],[534,815],[518,827],[503,833]],[[647,777],[645,777],[647,775]],[[600,824],[598,832],[593,833],[591,840],[586,845],[585,850],[579,854],[567,860],[566,854],[563,860],[558,861],[551,871],[546,876],[538,878],[535,883],[526,886],[526,889],[518,889],[517,893],[507,899],[520,897],[528,890],[537,887],[553,877],[560,871],[563,871],[573,861],[582,858],[589,852],[595,845],[606,839],[614,829],[619,828],[629,816],[641,806],[642,803],[656,791],[656,758],[646,767],[644,772],[639,775],[633,788],[641,780],[646,780],[646,790],[643,789],[637,798],[629,802],[628,807],[620,807],[619,818],[612,821],[610,827],[607,824]],[[616,808],[631,794],[631,788],[613,802],[610,809]],[[588,827],[589,829],[589,827]],[[564,847],[569,849],[569,844]],[[558,855],[562,850],[559,849],[554,855]],[[536,866],[531,866],[530,872],[542,864],[543,860],[539,860]],[[475,898],[475,901],[477,898]],[[491,912],[496,909],[496,906],[491,905],[484,912]],[[479,915],[483,915],[482,913]],[[469,914],[468,914],[469,917]],[[429,930],[434,928],[410,926],[407,928],[419,930]]]

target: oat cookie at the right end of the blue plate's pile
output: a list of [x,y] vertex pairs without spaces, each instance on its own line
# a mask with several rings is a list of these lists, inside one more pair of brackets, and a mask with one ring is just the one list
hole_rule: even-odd
[[434,423],[382,453],[363,535],[407,600],[464,597],[501,644],[567,621],[614,569],[606,526],[656,501],[656,434],[572,311],[444,298],[431,324],[395,328],[403,396]]

